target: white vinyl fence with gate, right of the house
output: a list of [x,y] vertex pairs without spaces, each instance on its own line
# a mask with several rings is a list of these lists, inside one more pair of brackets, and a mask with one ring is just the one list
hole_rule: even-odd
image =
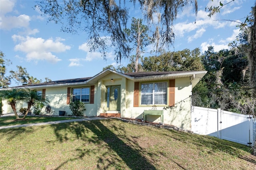
[[251,145],[255,141],[252,115],[192,107],[191,130],[197,134],[215,136],[220,139]]

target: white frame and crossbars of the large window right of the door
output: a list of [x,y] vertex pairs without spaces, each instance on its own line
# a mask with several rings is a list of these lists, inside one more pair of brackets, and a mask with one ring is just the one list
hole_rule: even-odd
[[[155,92],[155,84],[156,83],[166,83],[166,92],[160,92],[160,93],[157,93]],[[142,85],[143,84],[153,84],[153,91],[152,93],[142,93]],[[152,104],[142,104],[142,95],[150,95],[152,94]],[[160,104],[155,104],[155,95],[156,94],[163,94],[163,95],[166,95],[166,101],[165,103],[160,103]],[[168,102],[168,83],[166,81],[160,81],[160,82],[150,82],[150,83],[141,83],[140,84],[140,105],[167,105],[167,102]]]

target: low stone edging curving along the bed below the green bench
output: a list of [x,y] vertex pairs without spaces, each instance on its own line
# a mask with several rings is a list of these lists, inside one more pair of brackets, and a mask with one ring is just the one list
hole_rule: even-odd
[[191,134],[194,133],[191,130],[186,130],[186,129],[183,129],[183,128],[178,128],[178,127],[175,127],[173,125],[159,125],[159,124],[155,124],[155,123],[131,121],[131,120],[122,119],[122,118],[117,118],[117,119],[120,119],[121,121],[126,122],[126,123],[132,123],[132,124],[136,124],[136,125],[149,126],[149,127],[157,127],[157,128],[166,128],[166,129],[177,130],[177,131],[181,131],[181,132],[187,132],[187,133],[191,133]]

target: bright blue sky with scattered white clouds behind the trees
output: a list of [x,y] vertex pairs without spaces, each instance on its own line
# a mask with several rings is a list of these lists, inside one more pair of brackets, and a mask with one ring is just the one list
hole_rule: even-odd
[[[225,4],[229,1],[221,2]],[[229,48],[228,43],[233,42],[239,34],[237,23],[216,20],[244,22],[255,1],[235,0],[224,6],[219,14],[209,18],[205,7],[217,6],[219,2],[198,0],[197,16],[193,6],[179,12],[174,22],[174,47],[170,51],[198,47],[204,52],[210,45],[214,46],[215,51]],[[47,18],[33,9],[35,4],[34,0],[0,0],[0,50],[12,62],[6,66],[7,72],[16,71],[16,65],[21,65],[37,79],[44,81],[48,77],[55,81],[92,77],[107,65],[117,66],[111,48],[107,61],[104,61],[99,52],[89,51],[86,32],[79,32],[78,35],[60,32],[60,25],[48,23]],[[130,17],[142,18],[141,11],[131,6]],[[127,27],[130,28],[130,25]],[[149,46],[145,52],[151,49]],[[128,59],[121,61],[122,65],[127,63]],[[11,86],[14,85],[12,82]]]

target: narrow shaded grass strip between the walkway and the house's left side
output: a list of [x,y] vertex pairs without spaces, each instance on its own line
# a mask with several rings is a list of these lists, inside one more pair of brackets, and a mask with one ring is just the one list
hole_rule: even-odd
[[[20,118],[23,117],[19,116]],[[15,121],[15,116],[1,117],[0,118],[0,127],[2,126],[10,126],[10,125],[24,125],[30,123],[42,123],[42,122],[50,122],[50,121],[62,121],[66,119],[76,119],[74,117],[35,117],[35,116],[27,116],[24,120]]]

